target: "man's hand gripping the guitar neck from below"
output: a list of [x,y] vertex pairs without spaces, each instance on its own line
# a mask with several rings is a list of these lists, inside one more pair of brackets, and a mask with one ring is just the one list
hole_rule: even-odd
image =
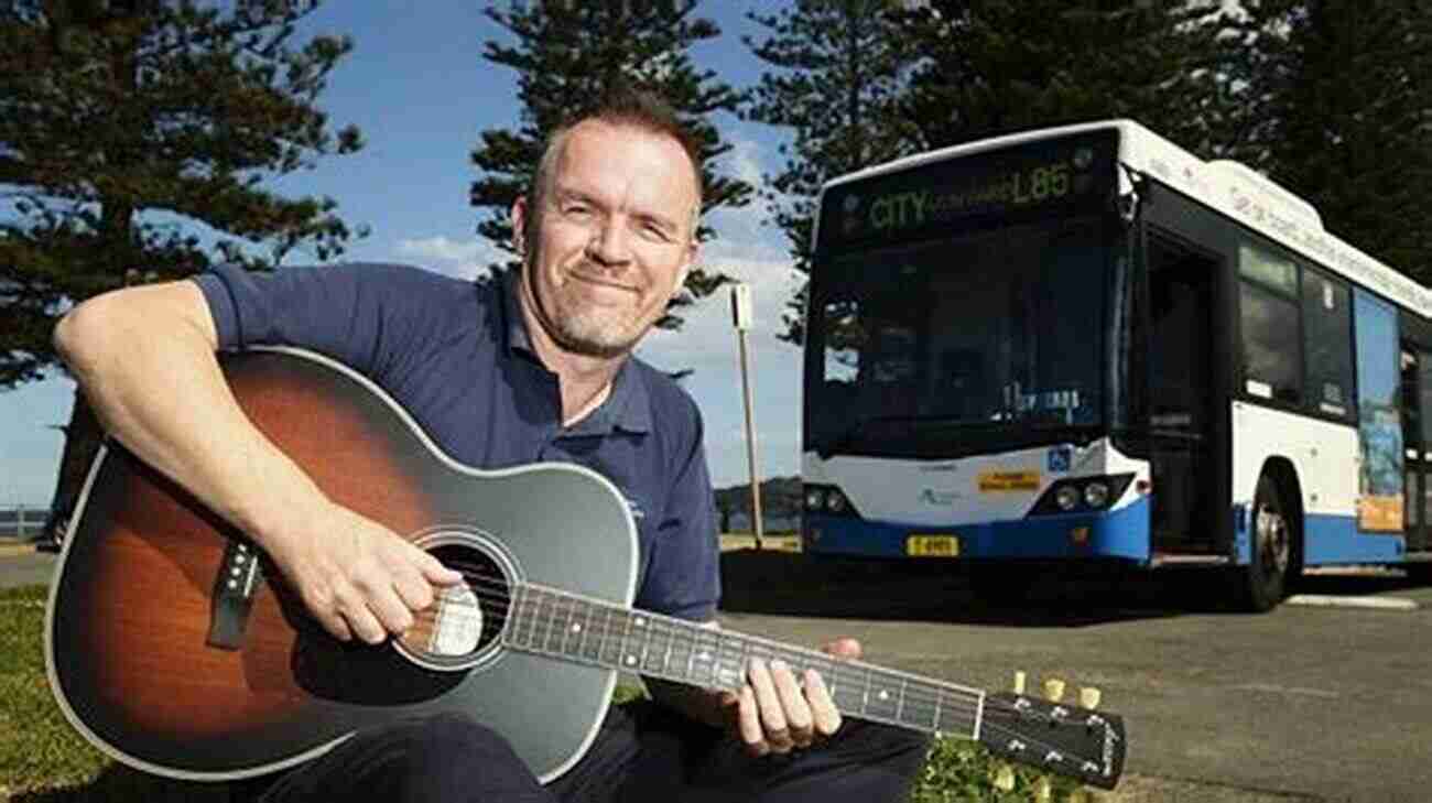
[[[821,650],[839,658],[861,657],[861,643],[853,638],[839,638]],[[789,753],[841,729],[841,711],[821,674],[806,670],[802,681],[796,681],[785,661],[752,660],[746,686],[722,693],[722,704],[748,753],[758,757]]]

